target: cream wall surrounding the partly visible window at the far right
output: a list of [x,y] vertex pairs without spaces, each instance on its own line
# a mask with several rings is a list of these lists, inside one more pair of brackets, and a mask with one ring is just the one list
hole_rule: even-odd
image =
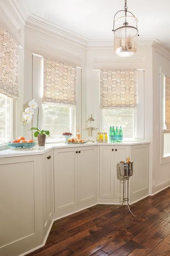
[[[161,73],[170,76],[170,53],[153,48],[153,185],[152,193],[170,185],[170,160],[160,164],[164,138],[161,113]],[[161,145],[162,143],[162,145]]]

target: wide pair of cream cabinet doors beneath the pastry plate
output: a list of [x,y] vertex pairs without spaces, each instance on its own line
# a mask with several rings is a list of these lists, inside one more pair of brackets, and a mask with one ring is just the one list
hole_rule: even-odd
[[97,198],[97,147],[54,149],[55,213]]

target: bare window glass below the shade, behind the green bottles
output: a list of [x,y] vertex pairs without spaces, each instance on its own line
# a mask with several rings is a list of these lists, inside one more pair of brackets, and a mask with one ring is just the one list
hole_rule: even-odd
[[123,138],[134,138],[134,109],[103,109],[102,131],[109,134],[110,126],[122,126]]

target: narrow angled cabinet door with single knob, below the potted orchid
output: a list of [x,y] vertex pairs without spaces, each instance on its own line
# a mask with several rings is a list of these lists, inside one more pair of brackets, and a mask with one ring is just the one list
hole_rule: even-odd
[[43,154],[43,233],[46,233],[52,220],[52,175],[53,150]]

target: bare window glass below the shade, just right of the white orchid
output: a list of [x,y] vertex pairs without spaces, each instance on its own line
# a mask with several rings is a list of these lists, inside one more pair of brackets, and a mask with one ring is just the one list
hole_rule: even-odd
[[73,118],[73,107],[42,104],[42,127],[44,130],[50,130],[50,139],[61,138],[64,131],[73,133]]

